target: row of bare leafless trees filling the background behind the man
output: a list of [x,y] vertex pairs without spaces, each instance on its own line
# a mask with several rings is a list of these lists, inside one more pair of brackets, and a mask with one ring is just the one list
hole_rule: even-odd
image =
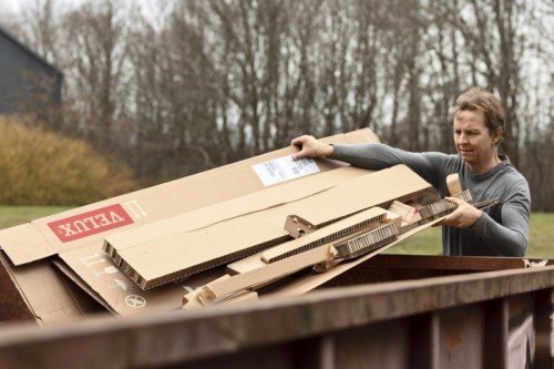
[[143,185],[302,133],[369,126],[391,145],[453,152],[451,106],[480,86],[506,109],[502,152],[529,178],[534,211],[554,211],[552,1],[155,3],[45,0],[4,22],[65,75],[49,126]]

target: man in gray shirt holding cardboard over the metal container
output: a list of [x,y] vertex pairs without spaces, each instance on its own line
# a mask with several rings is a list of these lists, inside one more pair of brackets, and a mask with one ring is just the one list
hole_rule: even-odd
[[[458,205],[443,222],[444,255],[525,255],[529,243],[531,195],[527,181],[497,147],[504,130],[504,111],[491,93],[472,89],[456,100],[453,112],[458,155],[438,152],[412,153],[381,143],[327,145],[312,136],[293,140],[300,151],[294,160],[325,156],[356,166],[381,170],[406,164],[431,183],[441,197]],[[458,173],[473,201],[500,199],[485,209],[449,197],[447,176]]]

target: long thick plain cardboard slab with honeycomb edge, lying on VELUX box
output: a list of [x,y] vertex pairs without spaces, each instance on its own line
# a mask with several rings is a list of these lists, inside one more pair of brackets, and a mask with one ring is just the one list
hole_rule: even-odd
[[329,223],[372,206],[388,207],[394,199],[409,199],[429,192],[431,185],[406,165],[368,172],[326,191],[281,204],[264,197],[264,211],[247,213],[185,233],[163,233],[119,250],[124,271],[148,289],[228,264],[287,239],[284,229],[290,214],[302,213]]

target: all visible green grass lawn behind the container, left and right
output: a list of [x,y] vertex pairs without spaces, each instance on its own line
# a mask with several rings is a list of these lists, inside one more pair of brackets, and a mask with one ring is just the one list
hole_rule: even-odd
[[[61,206],[0,206],[0,228],[10,227],[66,209]],[[531,215],[527,257],[554,258],[554,213]],[[391,247],[389,254],[441,255],[441,228],[428,228]]]

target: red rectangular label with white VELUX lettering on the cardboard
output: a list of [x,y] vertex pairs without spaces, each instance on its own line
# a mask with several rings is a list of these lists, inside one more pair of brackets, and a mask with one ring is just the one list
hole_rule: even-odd
[[48,226],[62,243],[69,243],[133,223],[123,206],[115,204],[55,221]]

